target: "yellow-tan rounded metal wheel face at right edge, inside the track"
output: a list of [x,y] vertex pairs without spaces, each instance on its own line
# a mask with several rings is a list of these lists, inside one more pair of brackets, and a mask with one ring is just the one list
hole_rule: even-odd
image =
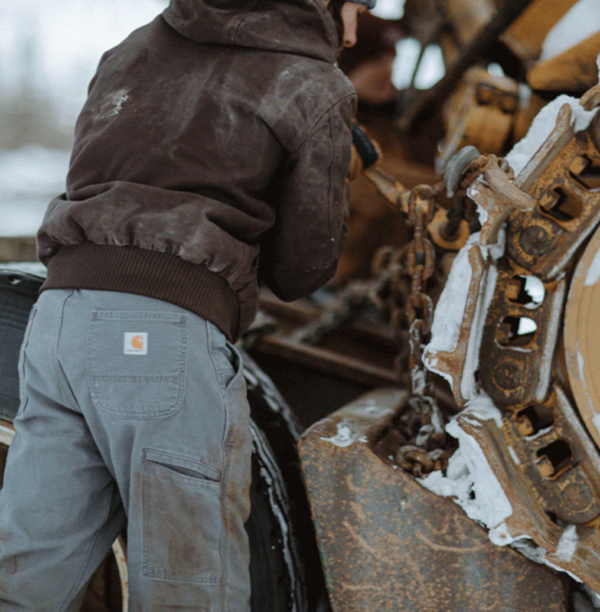
[[579,414],[600,447],[600,231],[577,263],[565,314],[569,382]]

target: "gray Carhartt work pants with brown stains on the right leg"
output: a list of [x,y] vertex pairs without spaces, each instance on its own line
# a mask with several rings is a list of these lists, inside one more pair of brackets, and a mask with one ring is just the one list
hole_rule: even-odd
[[127,524],[132,612],[247,612],[252,443],[225,336],[159,300],[54,289],[19,367],[0,610],[78,610]]

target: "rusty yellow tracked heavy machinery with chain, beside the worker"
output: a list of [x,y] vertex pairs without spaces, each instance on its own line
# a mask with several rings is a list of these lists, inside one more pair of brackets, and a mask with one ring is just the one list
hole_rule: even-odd
[[[395,123],[444,180],[370,172],[406,241],[382,245],[370,279],[290,305],[265,293],[243,340],[253,610],[594,609],[600,41],[542,55],[571,7],[407,0],[408,34],[438,44],[450,76],[401,92]],[[563,92],[581,101],[548,104]],[[42,277],[0,269],[4,451]],[[288,403],[309,426],[299,456]],[[127,609],[125,536],[84,609]]]

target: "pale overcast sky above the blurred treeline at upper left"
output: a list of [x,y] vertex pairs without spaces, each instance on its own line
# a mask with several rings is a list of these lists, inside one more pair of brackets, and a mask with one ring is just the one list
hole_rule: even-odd
[[[60,101],[66,122],[83,104],[102,53],[148,23],[167,0],[1,0],[0,91],[27,80]],[[404,0],[379,0],[377,13],[402,14]],[[28,61],[28,58],[30,61]]]

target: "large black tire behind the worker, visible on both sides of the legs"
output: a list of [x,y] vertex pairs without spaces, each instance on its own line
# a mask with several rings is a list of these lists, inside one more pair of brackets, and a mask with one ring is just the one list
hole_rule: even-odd
[[[0,268],[0,419],[8,423],[19,406],[19,351],[42,282],[41,275],[28,274],[20,266]],[[246,524],[252,612],[329,612],[296,450],[300,425],[272,381],[245,353],[244,375],[253,439],[252,509]],[[106,596],[96,604],[98,597],[90,592],[84,609],[126,609],[126,576],[115,567],[110,558],[99,568],[92,583]]]

